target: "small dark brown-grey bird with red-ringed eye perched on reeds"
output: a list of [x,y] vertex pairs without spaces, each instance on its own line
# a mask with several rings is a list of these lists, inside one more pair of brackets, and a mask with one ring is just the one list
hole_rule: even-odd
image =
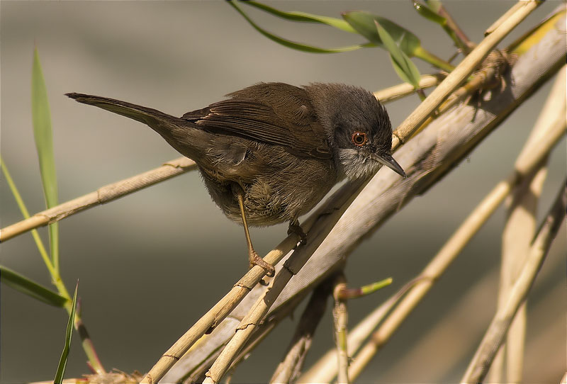
[[366,178],[386,165],[405,177],[391,155],[386,109],[357,86],[259,83],[180,118],[112,98],[67,94],[149,125],[196,162],[210,197],[241,222],[250,268],[274,266],[252,247],[248,226],[289,221],[305,241],[298,217],[345,177]]

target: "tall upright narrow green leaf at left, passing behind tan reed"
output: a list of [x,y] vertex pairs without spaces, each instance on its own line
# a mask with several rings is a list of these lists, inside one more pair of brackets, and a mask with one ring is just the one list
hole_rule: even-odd
[[[33,136],[38,149],[41,182],[45,205],[47,208],[57,205],[57,176],[55,174],[55,157],[53,156],[53,135],[51,113],[47,99],[47,87],[41,70],[38,49],[33,50],[33,69],[31,76],[31,111],[33,120]],[[59,223],[49,225],[51,259],[59,271]]]

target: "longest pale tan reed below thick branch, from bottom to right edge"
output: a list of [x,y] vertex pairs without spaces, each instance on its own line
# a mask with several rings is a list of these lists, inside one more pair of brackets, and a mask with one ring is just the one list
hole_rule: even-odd
[[400,326],[406,317],[413,310],[415,305],[425,296],[432,288],[434,282],[442,275],[451,262],[461,252],[461,249],[470,241],[473,235],[480,230],[481,226],[492,215],[498,205],[502,203],[505,196],[510,193],[520,178],[529,174],[546,157],[552,147],[565,134],[567,128],[566,110],[559,109],[556,111],[556,120],[548,125],[543,137],[538,135],[537,140],[531,140],[524,145],[520,156],[517,158],[515,171],[505,179],[500,181],[493,191],[486,196],[483,201],[468,215],[466,220],[449,238],[441,250],[430,261],[425,269],[420,273],[423,278],[414,288],[410,290],[408,295],[401,300],[400,304],[386,318],[381,327],[375,332],[372,340],[366,344],[356,358],[352,362],[349,371],[349,377],[354,380],[361,373],[362,369],[369,363],[378,350],[386,344],[393,332]]

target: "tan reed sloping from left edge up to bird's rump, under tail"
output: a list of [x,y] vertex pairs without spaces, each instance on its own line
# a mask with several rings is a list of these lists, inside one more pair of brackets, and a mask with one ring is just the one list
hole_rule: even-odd
[[47,210],[43,210],[30,218],[26,218],[20,222],[16,222],[8,227],[0,230],[0,242],[5,242],[24,232],[33,230],[34,228],[57,222],[67,216],[82,212],[88,208],[95,207],[116,200],[122,196],[126,196],[142,188],[152,186],[160,181],[171,179],[174,176],[184,174],[187,171],[196,169],[196,164],[191,159],[179,157],[170,162],[164,163],[156,169],[145,171],[128,179],[117,181],[103,186],[96,191],[87,193],[73,200],[67,201],[60,205],[56,205]]

